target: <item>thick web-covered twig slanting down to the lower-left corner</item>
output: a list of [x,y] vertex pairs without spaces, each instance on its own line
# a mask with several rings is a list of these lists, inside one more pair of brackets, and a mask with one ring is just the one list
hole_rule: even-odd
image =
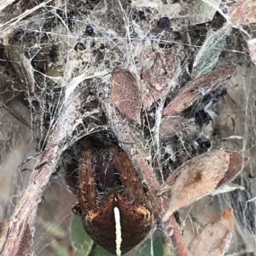
[[[31,212],[35,212],[38,208],[38,203],[41,201],[44,189],[49,183],[49,178],[52,172],[55,171],[59,163],[61,154],[66,147],[68,137],[72,136],[76,128],[76,119],[81,116],[80,109],[82,99],[80,88],[73,90],[60,109],[60,116],[55,123],[55,127],[49,136],[49,142],[38,163],[39,168],[35,168],[27,185],[26,191],[22,196],[19,205],[15,208],[13,216],[10,218],[9,234],[5,241],[1,256],[16,256],[21,255],[20,248],[22,247],[22,239],[25,236],[25,230],[28,223],[33,223],[31,220]],[[44,165],[42,165],[45,163]],[[34,216],[36,218],[36,215]],[[30,230],[34,230],[30,226]],[[31,244],[32,246],[32,244]]]

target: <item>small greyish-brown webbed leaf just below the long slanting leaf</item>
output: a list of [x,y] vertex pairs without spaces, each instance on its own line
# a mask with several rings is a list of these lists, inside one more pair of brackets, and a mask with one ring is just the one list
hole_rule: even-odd
[[160,123],[160,135],[162,137],[173,137],[190,123],[190,120],[183,119],[180,116],[165,116]]

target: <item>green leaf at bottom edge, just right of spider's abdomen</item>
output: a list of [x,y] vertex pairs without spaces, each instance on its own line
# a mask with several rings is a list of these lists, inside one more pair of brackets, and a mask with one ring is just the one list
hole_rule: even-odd
[[[152,241],[153,239],[153,241]],[[160,236],[155,236],[152,239],[148,239],[143,242],[142,246],[139,248],[136,256],[163,256],[163,241]],[[151,251],[153,252],[151,254]]]

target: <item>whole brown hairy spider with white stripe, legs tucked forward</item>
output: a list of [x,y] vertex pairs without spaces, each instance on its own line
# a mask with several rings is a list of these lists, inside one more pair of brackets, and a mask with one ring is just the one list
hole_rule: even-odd
[[79,204],[84,230],[121,255],[148,235],[154,214],[127,154],[116,147],[87,148],[79,160]]

